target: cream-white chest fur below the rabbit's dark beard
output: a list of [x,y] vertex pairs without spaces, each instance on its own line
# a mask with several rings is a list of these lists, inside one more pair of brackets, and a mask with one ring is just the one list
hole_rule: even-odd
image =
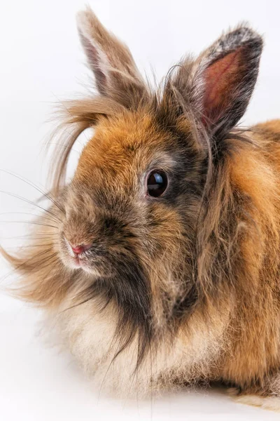
[[211,327],[207,326],[206,330],[201,319],[193,314],[188,333],[181,329],[172,340],[152,344],[137,370],[137,337],[113,358],[120,344],[120,338],[115,335],[113,304],[99,312],[91,300],[65,312],[50,314],[48,322],[52,329],[48,330],[58,329],[59,338],[63,338],[64,345],[94,380],[99,392],[127,399],[211,377],[211,367],[225,346],[225,326],[217,320],[213,316]]

